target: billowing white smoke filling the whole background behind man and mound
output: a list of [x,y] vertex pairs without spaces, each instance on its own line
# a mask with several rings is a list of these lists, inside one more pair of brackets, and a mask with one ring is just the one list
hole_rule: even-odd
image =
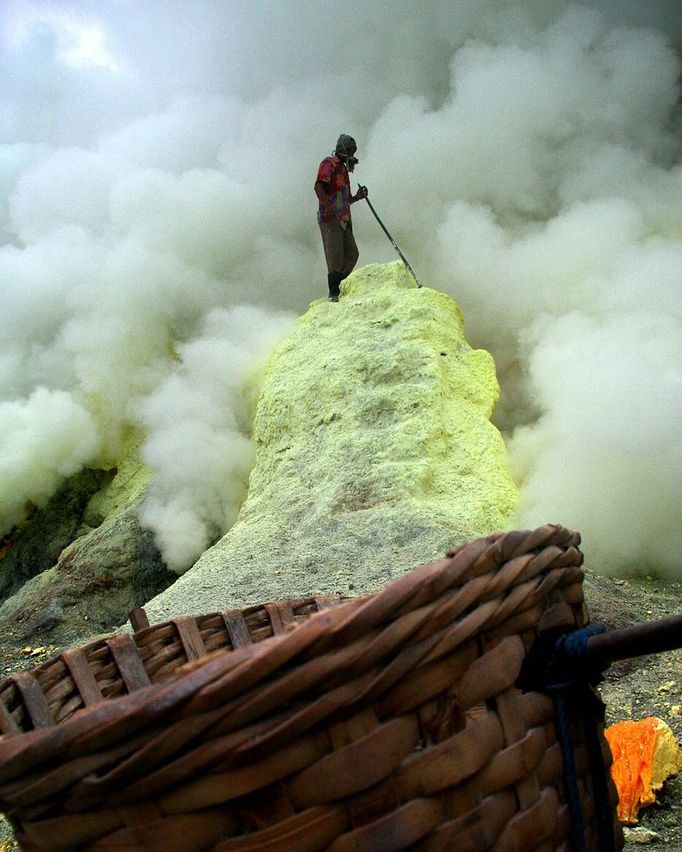
[[[227,529],[239,382],[324,295],[312,183],[347,132],[495,356],[519,522],[679,575],[681,44],[660,0],[5,0],[0,532],[140,419],[168,562]],[[360,262],[393,259],[353,209]]]

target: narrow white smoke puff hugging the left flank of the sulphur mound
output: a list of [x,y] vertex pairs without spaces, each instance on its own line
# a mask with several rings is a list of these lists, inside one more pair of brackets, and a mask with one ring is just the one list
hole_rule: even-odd
[[[253,307],[211,311],[178,366],[140,405],[153,477],[141,512],[169,568],[182,571],[237,517],[252,466],[244,386],[291,325]],[[255,395],[252,393],[252,396]]]

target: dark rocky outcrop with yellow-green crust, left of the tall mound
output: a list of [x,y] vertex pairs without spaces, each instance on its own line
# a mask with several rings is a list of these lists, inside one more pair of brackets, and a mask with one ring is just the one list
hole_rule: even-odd
[[[33,552],[29,551],[33,545],[43,562],[40,572],[0,606],[0,633],[22,641],[69,643],[79,635],[119,625],[131,609],[175,578],[153,534],[138,520],[149,478],[139,458],[139,443],[139,435],[130,437],[103,488],[92,493],[104,472],[81,475],[67,483],[25,530],[16,532],[12,552]],[[75,496],[64,501],[60,513],[53,504],[65,494]],[[41,525],[44,517],[62,522]],[[53,529],[58,529],[59,537]]]

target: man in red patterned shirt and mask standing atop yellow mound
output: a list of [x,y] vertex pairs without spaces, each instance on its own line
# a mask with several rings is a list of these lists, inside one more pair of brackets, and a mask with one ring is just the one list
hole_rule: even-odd
[[355,139],[342,133],[332,156],[325,157],[320,163],[315,181],[315,195],[320,202],[317,221],[327,261],[330,302],[339,301],[340,284],[350,275],[358,260],[350,205],[366,198],[367,189],[359,186],[355,195],[350,193],[348,175],[358,162],[355,156],[357,149]]

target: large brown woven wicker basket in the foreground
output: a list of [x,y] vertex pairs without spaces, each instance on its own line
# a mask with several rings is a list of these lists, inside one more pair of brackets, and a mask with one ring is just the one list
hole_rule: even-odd
[[[499,534],[310,618],[318,602],[252,608],[247,626],[282,628],[255,643],[180,619],[124,654],[119,637],[62,654],[0,687],[0,810],[27,850],[568,852],[554,704],[515,682],[538,631],[586,621],[578,543]],[[235,650],[205,656],[220,647]],[[571,735],[597,852],[582,725]]]

